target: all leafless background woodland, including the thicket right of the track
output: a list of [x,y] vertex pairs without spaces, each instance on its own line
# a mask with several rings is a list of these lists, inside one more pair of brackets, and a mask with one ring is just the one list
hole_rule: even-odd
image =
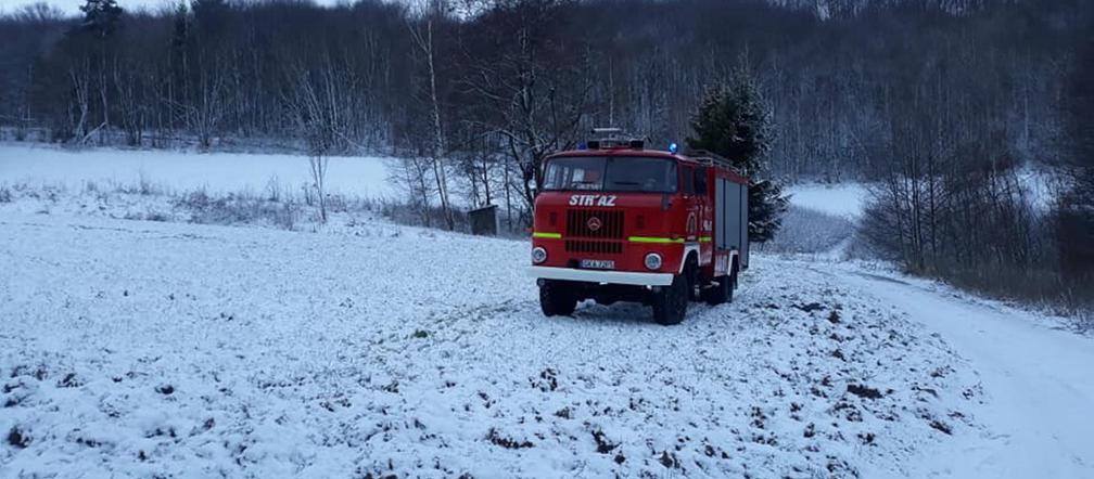
[[[453,227],[458,178],[467,205],[523,224],[547,154],[594,126],[680,142],[705,92],[744,74],[770,115],[767,174],[870,182],[874,254],[1090,301],[1086,0],[115,1],[0,17],[7,138],[392,154],[421,222]],[[1047,208],[1033,168],[1060,178]]]

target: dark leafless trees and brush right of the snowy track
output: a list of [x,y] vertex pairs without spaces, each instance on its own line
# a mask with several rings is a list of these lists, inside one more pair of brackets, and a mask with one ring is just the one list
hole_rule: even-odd
[[[1091,12],[1076,13],[1082,31],[1094,31]],[[1072,47],[1052,67],[1058,103],[1038,121],[1014,115],[1024,97],[984,87],[986,72],[1005,73],[963,45],[886,89],[861,226],[877,253],[999,296],[1094,305],[1094,40]],[[1039,172],[1015,141],[1036,135],[1046,136]]]

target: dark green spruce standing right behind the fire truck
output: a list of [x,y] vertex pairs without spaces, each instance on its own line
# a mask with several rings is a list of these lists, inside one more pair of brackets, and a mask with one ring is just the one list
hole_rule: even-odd
[[711,89],[691,119],[688,148],[708,150],[733,162],[748,177],[748,238],[764,243],[775,237],[787,210],[782,188],[764,178],[771,149],[771,115],[756,84],[744,71]]

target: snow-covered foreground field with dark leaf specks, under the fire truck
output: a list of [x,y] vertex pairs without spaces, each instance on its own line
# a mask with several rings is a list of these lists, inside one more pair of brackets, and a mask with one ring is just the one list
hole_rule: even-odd
[[0,200],[0,477],[1094,476],[1094,341],[871,265],[545,318],[524,242],[177,208]]

